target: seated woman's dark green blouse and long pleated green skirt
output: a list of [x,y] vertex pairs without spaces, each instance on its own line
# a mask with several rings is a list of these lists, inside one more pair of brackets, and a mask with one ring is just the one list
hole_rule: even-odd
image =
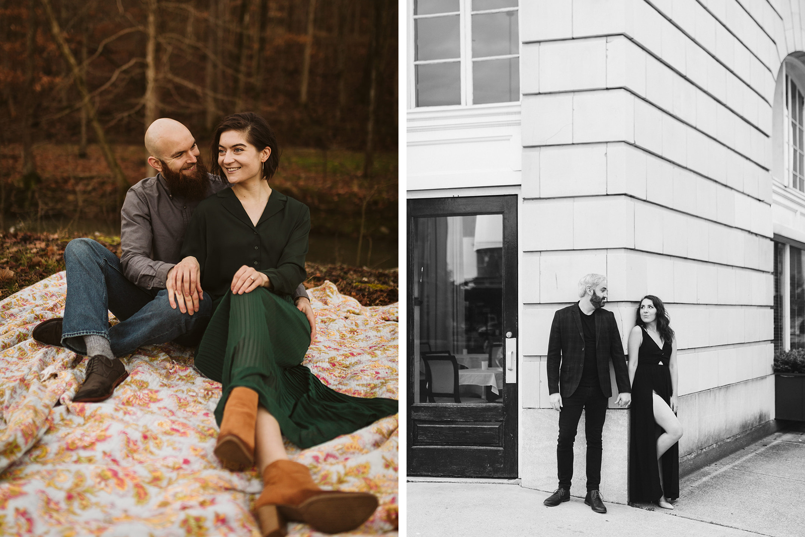
[[[332,390],[302,365],[310,325],[291,293],[305,277],[309,229],[308,208],[277,191],[271,192],[254,225],[228,188],[199,204],[182,248],[183,258],[198,259],[202,288],[213,297],[213,316],[196,349],[195,365],[207,378],[221,382],[217,423],[229,393],[244,386],[258,393],[260,405],[299,448],[354,432],[398,411],[395,399]],[[241,266],[267,275],[273,288],[233,294],[229,286]]]

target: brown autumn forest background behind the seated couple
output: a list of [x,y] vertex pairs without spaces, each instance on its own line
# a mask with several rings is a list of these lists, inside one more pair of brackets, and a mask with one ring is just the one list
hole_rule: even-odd
[[[155,175],[142,137],[156,118],[188,126],[209,164],[217,122],[246,110],[278,133],[272,186],[311,209],[314,273],[396,267],[396,7],[0,0],[0,298],[63,268],[72,236],[118,248],[126,190]],[[353,273],[396,295],[395,278]]]

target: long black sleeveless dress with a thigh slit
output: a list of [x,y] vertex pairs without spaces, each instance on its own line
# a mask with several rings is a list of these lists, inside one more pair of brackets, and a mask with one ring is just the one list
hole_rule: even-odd
[[[642,328],[642,327],[641,327]],[[663,454],[663,486],[657,467],[657,439],[663,434],[654,421],[652,391],[671,406],[671,341],[660,349],[646,329],[638,352],[638,367],[632,382],[629,496],[632,502],[656,502],[663,496],[679,497],[679,443]]]

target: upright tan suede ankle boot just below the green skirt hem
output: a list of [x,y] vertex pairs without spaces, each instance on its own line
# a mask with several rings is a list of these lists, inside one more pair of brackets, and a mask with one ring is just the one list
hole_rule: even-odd
[[226,469],[242,472],[254,465],[257,406],[256,391],[237,386],[229,392],[214,451]]

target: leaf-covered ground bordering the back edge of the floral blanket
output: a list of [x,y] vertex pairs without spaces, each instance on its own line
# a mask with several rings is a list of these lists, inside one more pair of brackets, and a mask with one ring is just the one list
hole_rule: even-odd
[[[120,255],[120,238],[93,237]],[[0,299],[64,271],[64,248],[72,237],[62,233],[0,234]],[[325,279],[338,291],[365,306],[383,306],[398,301],[398,271],[380,271],[346,265],[308,263],[305,287],[316,287]]]

